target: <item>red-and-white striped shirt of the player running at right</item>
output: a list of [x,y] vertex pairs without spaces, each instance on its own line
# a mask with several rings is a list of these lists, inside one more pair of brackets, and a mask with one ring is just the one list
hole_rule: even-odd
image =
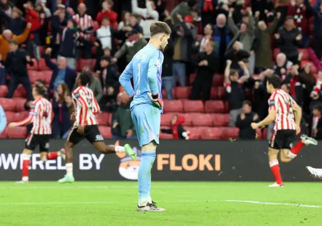
[[268,99],[269,110],[276,111],[274,130],[296,130],[292,105],[294,99],[282,89],[275,90]]

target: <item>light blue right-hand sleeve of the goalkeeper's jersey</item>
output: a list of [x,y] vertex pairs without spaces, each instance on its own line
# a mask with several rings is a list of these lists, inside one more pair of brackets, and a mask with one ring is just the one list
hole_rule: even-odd
[[164,56],[161,51],[153,53],[149,60],[147,80],[152,94],[158,93],[157,74],[162,72]]

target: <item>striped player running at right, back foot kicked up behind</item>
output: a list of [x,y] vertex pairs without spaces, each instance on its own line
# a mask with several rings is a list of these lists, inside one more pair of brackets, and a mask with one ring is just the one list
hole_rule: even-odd
[[276,182],[269,187],[283,187],[277,160],[279,150],[280,160],[287,163],[298,155],[304,145],[317,145],[317,141],[303,134],[301,141],[293,147],[295,136],[300,133],[302,110],[289,94],[280,89],[281,79],[278,75],[267,76],[266,88],[267,92],[272,94],[268,99],[268,116],[259,123],[252,123],[251,126],[256,130],[275,121],[274,133],[269,141],[268,159]]

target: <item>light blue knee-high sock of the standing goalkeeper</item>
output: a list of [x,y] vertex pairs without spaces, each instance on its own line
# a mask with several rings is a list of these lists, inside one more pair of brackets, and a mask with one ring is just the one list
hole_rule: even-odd
[[155,159],[155,151],[142,152],[141,162],[138,172],[139,184],[139,206],[145,206],[150,197],[151,188],[151,169]]

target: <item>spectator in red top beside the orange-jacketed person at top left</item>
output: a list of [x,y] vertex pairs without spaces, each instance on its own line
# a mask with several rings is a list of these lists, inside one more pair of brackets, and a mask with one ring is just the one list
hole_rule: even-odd
[[39,18],[38,13],[34,10],[34,5],[31,1],[28,1],[24,4],[25,8],[25,18],[26,23],[31,23],[30,28],[30,35],[28,41],[28,51],[29,53],[33,53],[33,56],[39,62],[40,60],[40,49],[39,46],[41,45],[40,36],[39,36],[39,29],[41,28],[41,20]]

